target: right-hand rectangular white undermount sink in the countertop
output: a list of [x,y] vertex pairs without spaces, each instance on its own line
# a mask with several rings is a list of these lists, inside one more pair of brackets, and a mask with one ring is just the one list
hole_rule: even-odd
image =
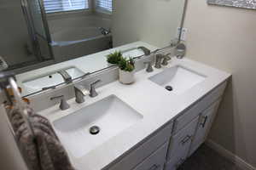
[[206,76],[180,65],[173,66],[153,77],[149,77],[149,80],[166,88],[166,90],[173,94],[183,94],[183,92],[189,88],[193,88],[196,84],[203,82],[205,79]]

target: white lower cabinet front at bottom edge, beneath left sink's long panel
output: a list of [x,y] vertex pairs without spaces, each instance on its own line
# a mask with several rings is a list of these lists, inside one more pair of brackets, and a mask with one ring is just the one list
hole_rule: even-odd
[[168,142],[162,145],[160,149],[156,150],[151,156],[149,156],[133,170],[162,170],[166,161],[167,149]]

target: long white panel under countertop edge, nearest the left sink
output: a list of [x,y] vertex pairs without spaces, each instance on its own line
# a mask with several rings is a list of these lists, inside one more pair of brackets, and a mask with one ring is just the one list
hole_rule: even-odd
[[132,150],[127,156],[123,157],[108,170],[131,170],[139,163],[145,160],[148,156],[160,148],[161,145],[169,142],[172,134],[172,123],[158,131],[153,137]]

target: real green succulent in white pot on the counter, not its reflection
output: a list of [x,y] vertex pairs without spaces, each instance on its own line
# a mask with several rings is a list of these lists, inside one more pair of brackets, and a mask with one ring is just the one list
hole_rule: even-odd
[[135,81],[134,73],[135,73],[135,62],[131,57],[126,59],[125,57],[121,57],[119,60],[119,82],[124,84],[131,84]]

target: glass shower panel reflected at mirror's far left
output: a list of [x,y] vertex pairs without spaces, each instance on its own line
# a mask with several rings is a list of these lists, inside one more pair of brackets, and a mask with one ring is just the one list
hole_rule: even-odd
[[9,69],[36,62],[38,59],[34,54],[20,1],[0,1],[0,22],[0,56],[7,62]]

